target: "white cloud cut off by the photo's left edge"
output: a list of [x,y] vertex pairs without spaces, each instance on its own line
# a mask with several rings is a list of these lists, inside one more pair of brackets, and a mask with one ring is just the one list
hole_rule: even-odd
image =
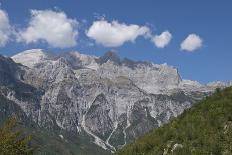
[[8,15],[5,11],[0,9],[0,47],[6,45],[11,35],[11,26]]

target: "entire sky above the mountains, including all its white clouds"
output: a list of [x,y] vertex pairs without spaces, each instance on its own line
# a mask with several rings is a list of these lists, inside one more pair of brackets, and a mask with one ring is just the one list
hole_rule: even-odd
[[183,79],[232,80],[231,0],[0,0],[0,54],[42,48],[167,63]]

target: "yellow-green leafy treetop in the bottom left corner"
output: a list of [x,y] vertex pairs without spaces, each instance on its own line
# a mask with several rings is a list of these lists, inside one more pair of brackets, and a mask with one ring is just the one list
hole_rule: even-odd
[[24,136],[16,131],[17,122],[11,117],[0,128],[0,155],[31,155],[33,149],[29,147],[31,136]]

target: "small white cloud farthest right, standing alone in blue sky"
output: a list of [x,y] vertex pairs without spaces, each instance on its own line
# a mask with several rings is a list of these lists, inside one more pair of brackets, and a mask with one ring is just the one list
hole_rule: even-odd
[[202,47],[203,40],[196,34],[190,34],[188,37],[181,43],[180,49],[192,52]]

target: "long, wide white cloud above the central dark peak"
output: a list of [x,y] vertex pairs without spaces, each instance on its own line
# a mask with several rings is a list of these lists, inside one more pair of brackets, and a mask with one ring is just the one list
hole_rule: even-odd
[[118,21],[108,22],[104,19],[94,21],[86,35],[96,43],[106,47],[118,47],[125,42],[134,42],[139,36],[146,36],[150,29],[135,24],[127,25]]

